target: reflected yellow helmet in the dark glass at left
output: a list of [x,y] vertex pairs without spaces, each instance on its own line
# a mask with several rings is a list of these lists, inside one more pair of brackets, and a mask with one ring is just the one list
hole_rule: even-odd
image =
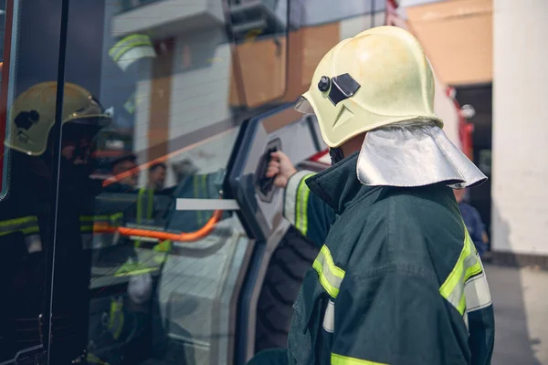
[[[40,156],[46,151],[49,132],[55,124],[57,85],[55,81],[37,84],[16,99],[5,141],[7,147],[31,156]],[[99,131],[111,123],[111,116],[90,91],[66,82],[62,124],[69,122],[96,127]]]

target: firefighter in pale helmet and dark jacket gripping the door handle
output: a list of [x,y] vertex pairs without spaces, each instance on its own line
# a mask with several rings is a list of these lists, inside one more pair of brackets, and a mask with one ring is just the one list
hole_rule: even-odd
[[369,29],[321,59],[296,109],[317,117],[332,166],[311,176],[278,152],[269,176],[286,187],[286,217],[327,233],[289,349],[250,363],[490,363],[490,290],[451,189],[486,177],[448,141],[433,100],[431,65],[401,28]]

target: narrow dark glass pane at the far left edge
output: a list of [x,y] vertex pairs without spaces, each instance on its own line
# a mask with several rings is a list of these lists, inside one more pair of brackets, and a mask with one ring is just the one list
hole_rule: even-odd
[[50,342],[61,5],[0,1],[0,363],[44,363]]

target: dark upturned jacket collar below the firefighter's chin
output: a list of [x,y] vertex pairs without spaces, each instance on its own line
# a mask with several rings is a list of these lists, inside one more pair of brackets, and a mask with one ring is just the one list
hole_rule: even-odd
[[328,203],[336,214],[342,214],[361,196],[380,189],[379,187],[365,186],[358,180],[356,174],[358,155],[359,151],[356,151],[341,162],[335,163],[327,170],[306,180],[311,192]]

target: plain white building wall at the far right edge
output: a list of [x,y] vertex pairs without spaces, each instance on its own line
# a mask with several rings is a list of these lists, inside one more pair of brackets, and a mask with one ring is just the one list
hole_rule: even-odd
[[493,5],[492,246],[548,255],[548,2]]

